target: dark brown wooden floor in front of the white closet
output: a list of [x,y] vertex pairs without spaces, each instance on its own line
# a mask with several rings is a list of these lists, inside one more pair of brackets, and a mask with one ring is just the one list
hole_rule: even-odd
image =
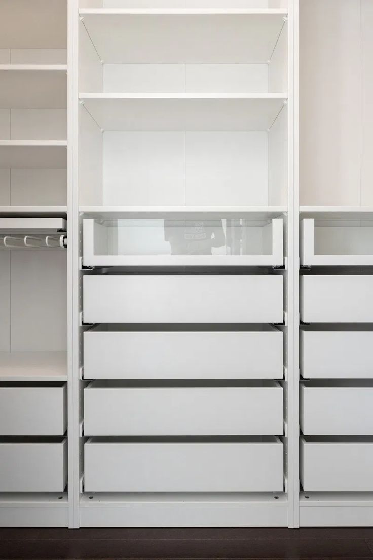
[[3,559],[372,558],[373,528],[0,529]]

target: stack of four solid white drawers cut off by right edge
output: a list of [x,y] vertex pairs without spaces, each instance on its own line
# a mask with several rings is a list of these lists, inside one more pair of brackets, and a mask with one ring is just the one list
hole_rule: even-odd
[[[300,479],[373,490],[373,276],[301,277]],[[341,323],[343,325],[341,325]]]

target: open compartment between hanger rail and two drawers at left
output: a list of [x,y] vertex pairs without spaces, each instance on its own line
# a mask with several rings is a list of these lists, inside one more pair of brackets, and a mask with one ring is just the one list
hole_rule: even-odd
[[24,231],[2,237],[2,381],[67,380],[67,251],[60,245],[62,234],[50,235],[49,244],[54,235],[59,248],[46,246],[45,232],[43,237],[30,232],[30,246]]

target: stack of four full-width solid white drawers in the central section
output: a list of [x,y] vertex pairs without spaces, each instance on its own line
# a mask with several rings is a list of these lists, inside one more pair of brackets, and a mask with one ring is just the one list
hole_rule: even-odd
[[86,491],[283,490],[282,333],[264,325],[281,276],[92,275],[83,293],[101,323],[84,333]]

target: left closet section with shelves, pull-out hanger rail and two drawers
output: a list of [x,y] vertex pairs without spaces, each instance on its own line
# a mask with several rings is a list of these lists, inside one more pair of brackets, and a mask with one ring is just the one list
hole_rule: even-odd
[[0,5],[3,526],[69,524],[67,7]]

